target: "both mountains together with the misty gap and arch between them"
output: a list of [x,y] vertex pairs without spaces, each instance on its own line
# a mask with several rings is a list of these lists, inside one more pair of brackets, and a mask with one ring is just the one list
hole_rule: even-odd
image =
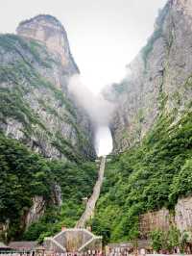
[[167,1],[125,78],[98,95],[56,17],[0,35],[0,241],[43,243],[75,227],[99,181],[84,225],[104,244],[191,243],[191,10]]

